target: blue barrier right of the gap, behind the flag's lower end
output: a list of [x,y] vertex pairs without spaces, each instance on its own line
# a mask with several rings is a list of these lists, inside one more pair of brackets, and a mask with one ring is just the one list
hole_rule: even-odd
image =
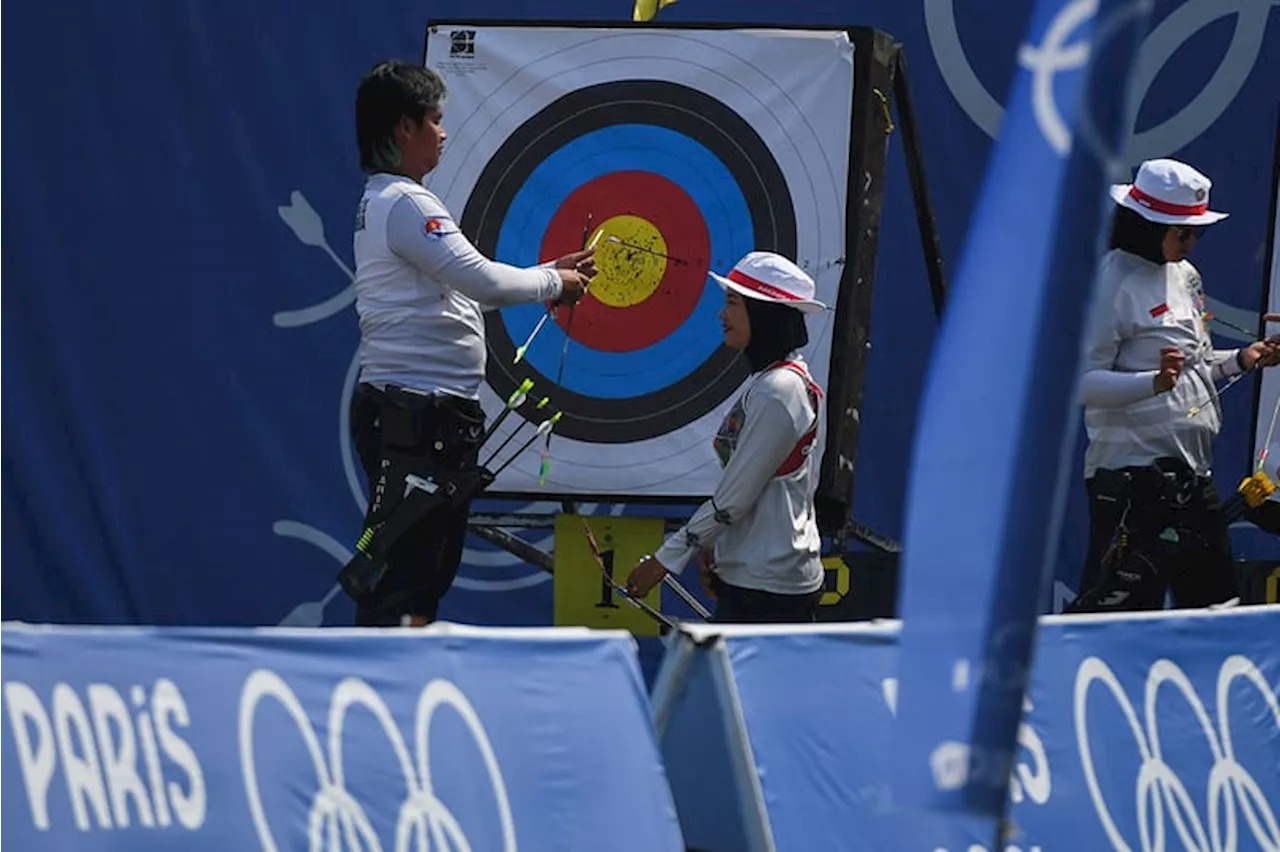
[[[892,807],[896,636],[881,622],[672,638],[654,719],[691,849],[993,848],[991,821]],[[1043,618],[1005,852],[1280,848],[1277,636],[1275,606]],[[989,768],[943,750],[932,770]]]

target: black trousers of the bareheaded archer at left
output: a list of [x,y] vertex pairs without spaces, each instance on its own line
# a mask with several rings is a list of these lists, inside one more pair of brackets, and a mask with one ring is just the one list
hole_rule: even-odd
[[[419,476],[448,475],[477,463],[483,432],[479,402],[358,385],[351,399],[351,435],[369,480],[366,525],[385,518],[403,498],[402,472],[389,480],[384,473],[389,458],[401,467],[410,459],[410,472]],[[394,627],[404,617],[435,620],[462,562],[470,507],[468,500],[438,509],[390,546],[381,582],[357,601],[357,626]]]

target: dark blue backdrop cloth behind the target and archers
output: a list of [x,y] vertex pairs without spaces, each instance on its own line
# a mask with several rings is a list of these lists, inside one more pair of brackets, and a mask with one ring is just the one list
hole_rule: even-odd
[[[1231,326],[1253,329],[1262,302],[1276,111],[1266,69],[1280,67],[1280,1],[1155,5],[1125,159],[1172,155],[1213,179],[1231,219],[1196,261],[1231,345],[1242,334]],[[23,5],[0,28],[0,614],[349,624],[334,576],[364,505],[342,414],[357,342],[356,81],[379,59],[421,59],[429,17],[626,20],[631,10],[631,0]],[[680,0],[658,20],[892,33],[910,60],[951,267],[1029,14],[992,0]],[[1079,37],[1064,32],[1061,61],[1042,70],[1050,114],[1065,111],[1079,77]],[[895,137],[854,514],[897,537],[937,327],[915,228]],[[983,334],[1009,352],[1018,331],[992,310]],[[1222,398],[1216,469],[1229,487],[1249,467],[1253,383]],[[1079,573],[1085,509],[1075,477],[1062,588]],[[548,531],[521,535],[550,545]],[[1277,554],[1274,536],[1242,549]],[[552,599],[548,574],[472,537],[443,615],[547,624]]]

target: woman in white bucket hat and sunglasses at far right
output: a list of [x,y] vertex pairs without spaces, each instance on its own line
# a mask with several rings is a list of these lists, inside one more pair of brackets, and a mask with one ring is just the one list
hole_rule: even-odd
[[1236,595],[1212,480],[1216,383],[1280,362],[1276,339],[1215,349],[1201,275],[1187,260],[1212,183],[1176,160],[1143,162],[1116,202],[1097,279],[1080,397],[1089,444],[1089,549],[1069,611],[1207,606]]

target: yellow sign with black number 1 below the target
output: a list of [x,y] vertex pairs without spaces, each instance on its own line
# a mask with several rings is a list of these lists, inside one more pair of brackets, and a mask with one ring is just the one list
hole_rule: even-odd
[[[582,518],[577,514],[556,518],[556,624],[627,629],[636,636],[658,636],[658,622],[628,604],[605,582],[586,542],[584,519],[591,526],[591,533],[600,545],[605,569],[622,587],[626,587],[627,576],[640,562],[640,556],[662,545],[662,518]],[[657,586],[644,600],[660,611],[662,586]]]

